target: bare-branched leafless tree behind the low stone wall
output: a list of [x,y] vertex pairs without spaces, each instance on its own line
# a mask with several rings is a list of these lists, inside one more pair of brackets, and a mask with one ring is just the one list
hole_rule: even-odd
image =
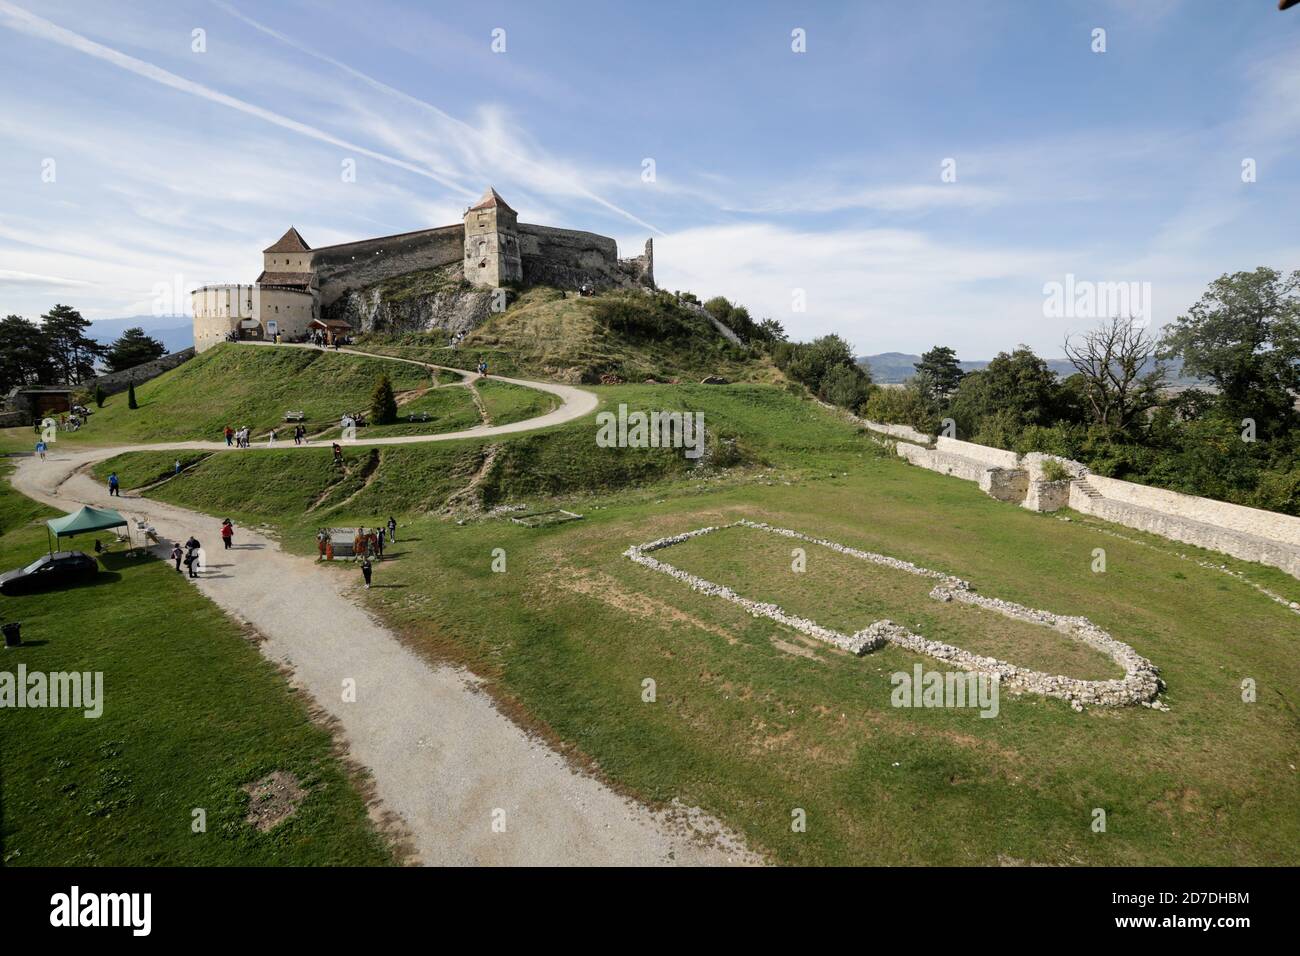
[[1166,369],[1158,362],[1150,365],[1156,339],[1132,319],[1114,317],[1079,337],[1066,337],[1065,355],[1082,376],[1092,423],[1106,432],[1128,432],[1160,403]]

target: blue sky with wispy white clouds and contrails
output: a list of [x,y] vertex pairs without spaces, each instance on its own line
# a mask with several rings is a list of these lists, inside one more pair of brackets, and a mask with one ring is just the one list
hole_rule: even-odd
[[0,0],[0,315],[182,311],[491,185],[796,339],[1057,358],[1105,308],[1053,282],[1158,330],[1300,268],[1297,146],[1275,0]]

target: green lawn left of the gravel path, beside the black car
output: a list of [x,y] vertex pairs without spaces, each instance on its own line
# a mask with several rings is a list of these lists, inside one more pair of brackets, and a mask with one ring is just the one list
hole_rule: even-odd
[[[0,485],[0,566],[40,554],[46,509]],[[44,866],[380,865],[390,852],[304,701],[211,601],[153,558],[104,555],[91,587],[0,597],[13,672],[100,671],[104,711],[3,715],[0,860]],[[259,834],[240,790],[273,770],[308,796]],[[207,831],[192,832],[195,809]]]

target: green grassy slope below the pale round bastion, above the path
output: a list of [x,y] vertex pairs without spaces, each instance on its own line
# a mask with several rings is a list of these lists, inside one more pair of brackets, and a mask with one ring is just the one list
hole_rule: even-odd
[[226,425],[252,425],[255,434],[274,427],[283,440],[292,432],[286,411],[303,411],[308,431],[337,423],[346,411],[365,410],[380,375],[396,392],[422,388],[429,375],[417,365],[315,349],[218,345],[135,389],[139,408],[126,407],[126,393],[109,395],[90,423],[60,434],[69,444],[148,441],[221,441]]

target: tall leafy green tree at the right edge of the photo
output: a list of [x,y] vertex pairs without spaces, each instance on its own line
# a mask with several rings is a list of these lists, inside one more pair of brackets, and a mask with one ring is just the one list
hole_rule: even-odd
[[1161,358],[1180,358],[1184,373],[1218,388],[1228,418],[1286,431],[1300,393],[1300,272],[1261,267],[1219,276],[1166,326],[1160,345]]

